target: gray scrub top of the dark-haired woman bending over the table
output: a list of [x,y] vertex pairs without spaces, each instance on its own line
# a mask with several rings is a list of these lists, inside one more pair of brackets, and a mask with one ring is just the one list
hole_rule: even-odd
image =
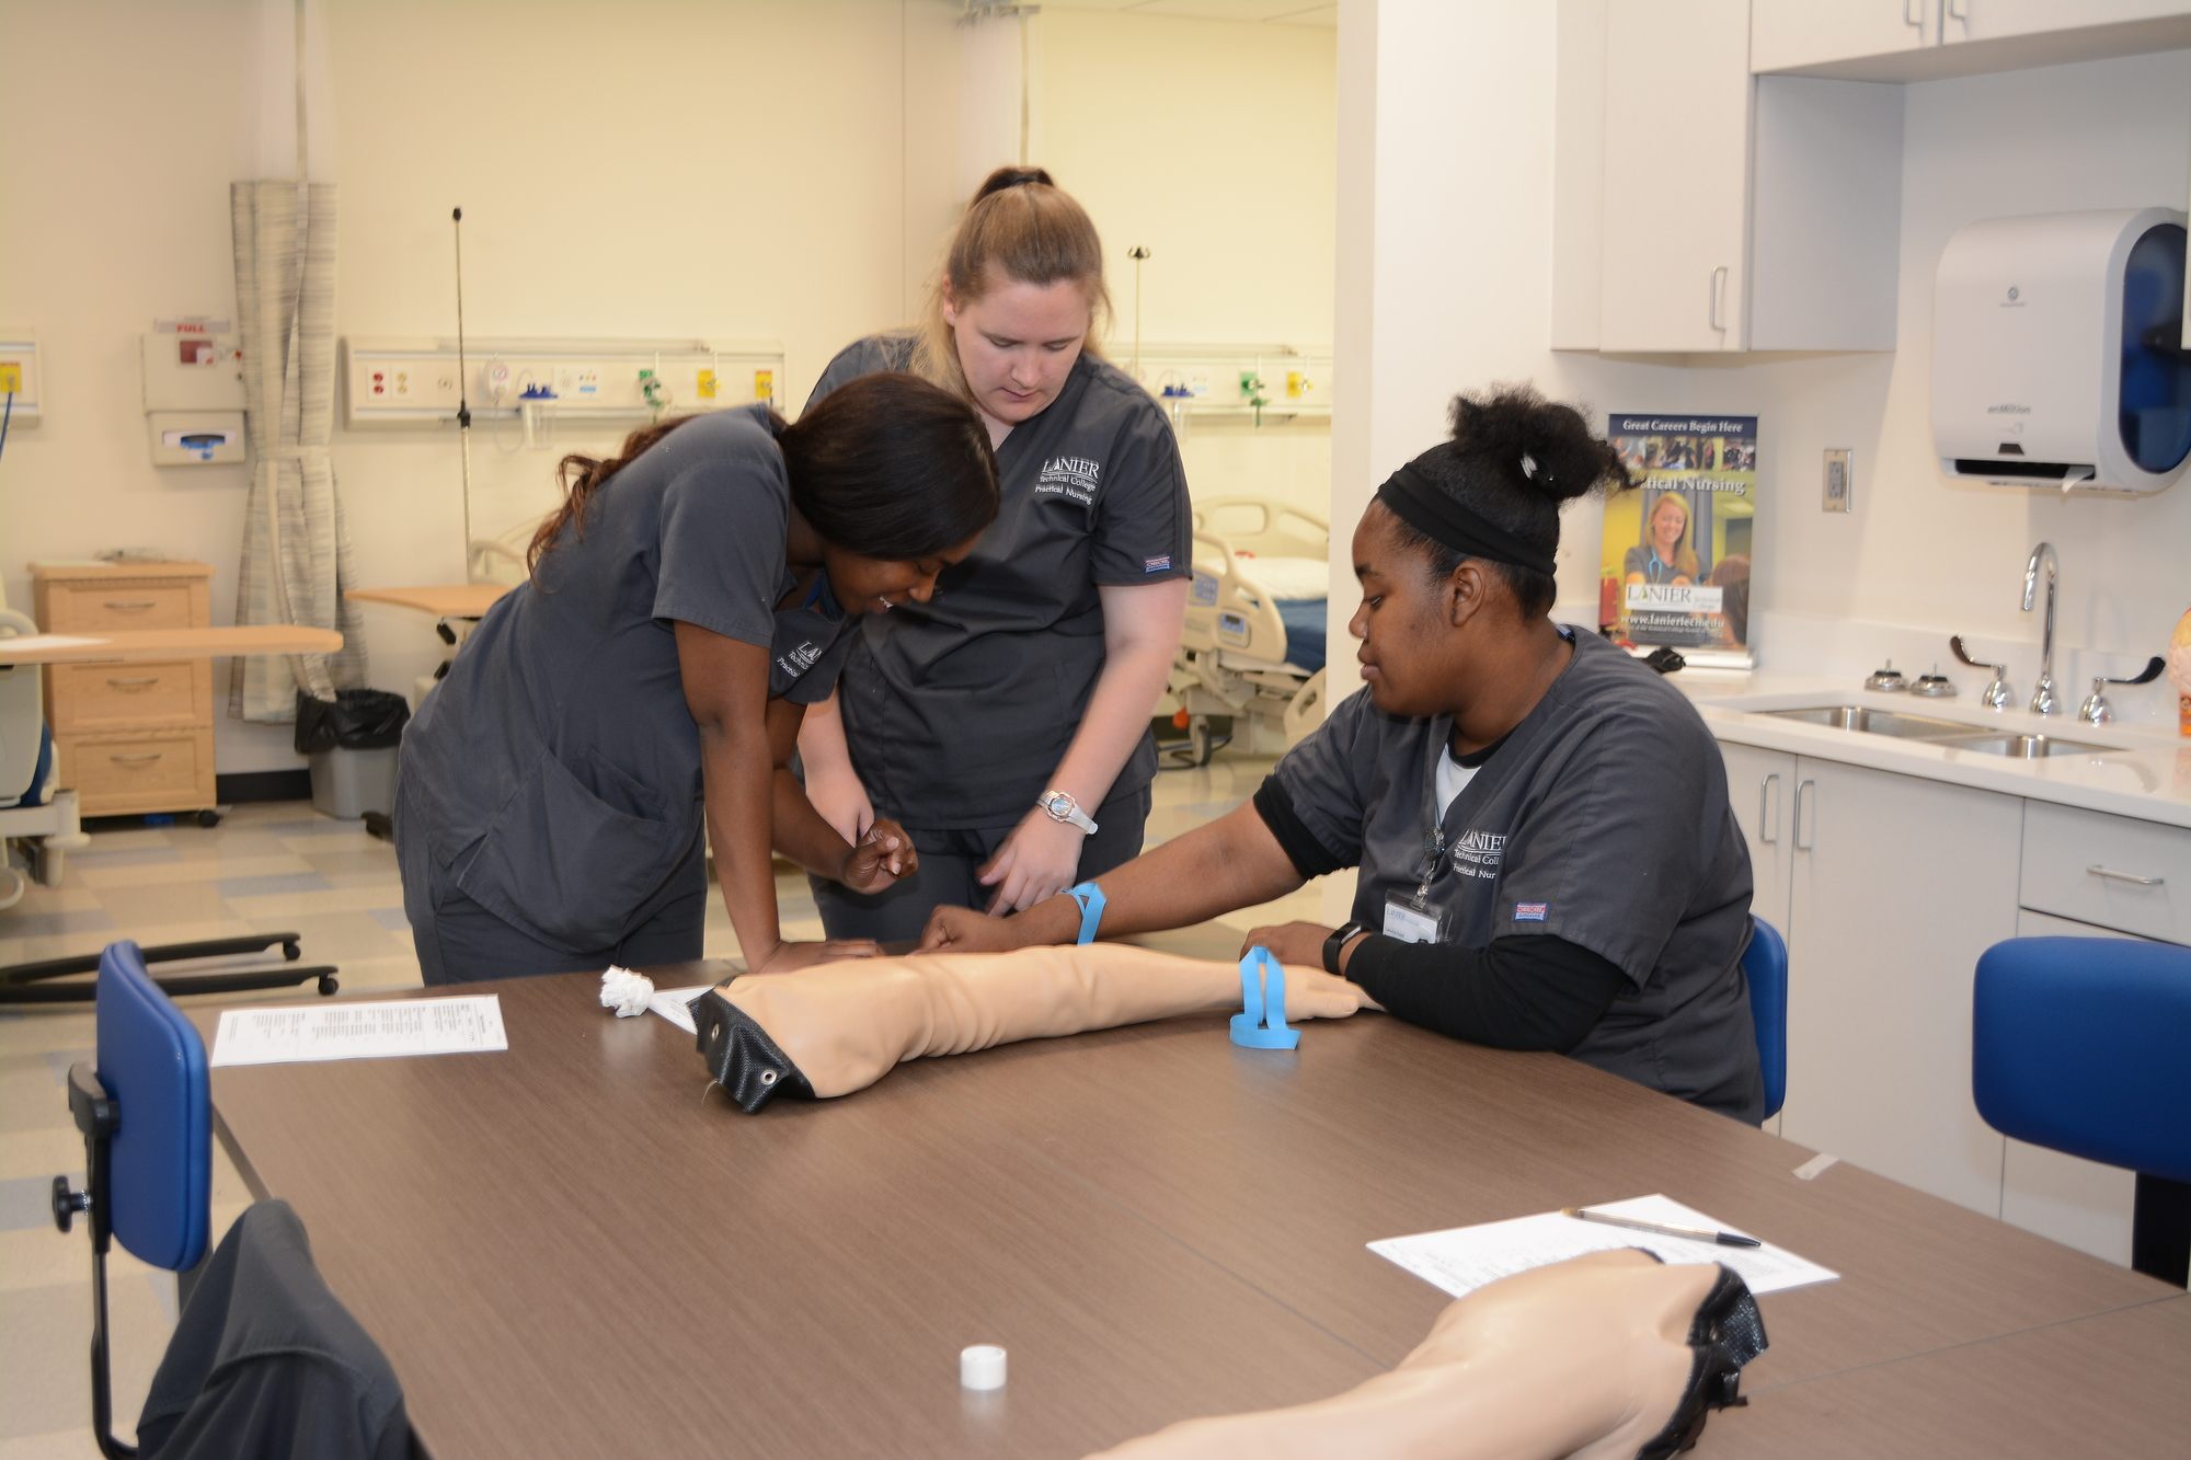
[[405,802],[464,894],[574,949],[638,925],[703,822],[675,620],[767,647],[771,699],[826,699],[844,664],[852,620],[824,574],[793,598],[789,526],[767,408],[699,417],[495,603],[403,732]]

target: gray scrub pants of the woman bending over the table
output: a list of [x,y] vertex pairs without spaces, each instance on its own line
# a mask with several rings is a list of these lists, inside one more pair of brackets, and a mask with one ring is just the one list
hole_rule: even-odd
[[[611,947],[574,949],[546,943],[506,923],[458,890],[445,866],[434,866],[427,837],[405,835],[403,798],[397,798],[397,866],[403,872],[403,914],[418,949],[427,986],[464,984],[530,973],[600,973],[611,962],[642,969],[699,958],[708,923],[708,855],[697,844],[662,888],[646,899],[638,923]],[[414,822],[416,824],[416,822]]]

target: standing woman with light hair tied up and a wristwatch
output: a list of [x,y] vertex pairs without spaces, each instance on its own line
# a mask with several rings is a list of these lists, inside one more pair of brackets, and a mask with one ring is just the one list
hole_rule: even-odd
[[1109,296],[1087,213],[1001,169],[960,221],[922,324],[830,362],[813,401],[911,370],[971,401],[1003,506],[936,601],[870,618],[800,734],[806,789],[848,840],[879,815],[920,870],[879,892],[815,879],[833,938],[911,940],[936,905],[1012,912],[1142,851],[1192,539],[1179,445],[1089,349]]

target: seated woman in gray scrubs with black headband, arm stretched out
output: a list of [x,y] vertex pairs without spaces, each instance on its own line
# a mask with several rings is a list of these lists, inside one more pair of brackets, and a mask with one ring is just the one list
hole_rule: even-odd
[[925,947],[1185,927],[1356,866],[1347,923],[1247,943],[1411,1024],[1757,1122],[1751,857],[1720,750],[1680,691],[1547,618],[1560,504],[1608,482],[1626,467],[1569,406],[1457,399],[1453,438],[1354,528],[1361,693],[1251,805],[1104,877],[1102,899],[1076,888],[1008,921],[940,908]]

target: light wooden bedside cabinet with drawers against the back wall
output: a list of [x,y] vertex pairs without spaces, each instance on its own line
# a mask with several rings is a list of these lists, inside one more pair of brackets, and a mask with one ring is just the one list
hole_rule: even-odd
[[[206,563],[31,568],[48,634],[202,629],[213,623],[210,579]],[[46,723],[83,815],[215,805],[213,660],[57,664]]]

